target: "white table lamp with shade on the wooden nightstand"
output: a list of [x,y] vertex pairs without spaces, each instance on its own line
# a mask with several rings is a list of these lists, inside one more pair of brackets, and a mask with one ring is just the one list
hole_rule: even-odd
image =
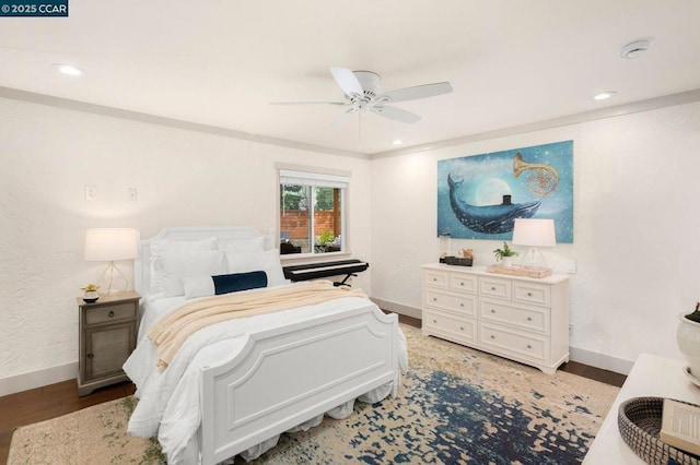
[[[133,260],[139,255],[137,230],[131,228],[92,228],[85,233],[86,262],[107,262],[103,293],[115,294],[127,290],[129,281],[115,266],[118,260]],[[102,283],[101,283],[102,285]]]

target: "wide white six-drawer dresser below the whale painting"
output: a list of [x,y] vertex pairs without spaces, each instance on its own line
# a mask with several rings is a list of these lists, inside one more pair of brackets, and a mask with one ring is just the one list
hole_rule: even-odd
[[553,374],[569,361],[569,276],[423,265],[422,332]]

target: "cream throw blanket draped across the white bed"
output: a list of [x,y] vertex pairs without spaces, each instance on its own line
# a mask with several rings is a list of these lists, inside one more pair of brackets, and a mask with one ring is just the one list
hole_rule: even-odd
[[164,370],[185,339],[205,326],[343,297],[366,298],[361,289],[335,287],[329,281],[207,297],[185,303],[163,317],[149,330],[148,336],[158,346],[158,366]]

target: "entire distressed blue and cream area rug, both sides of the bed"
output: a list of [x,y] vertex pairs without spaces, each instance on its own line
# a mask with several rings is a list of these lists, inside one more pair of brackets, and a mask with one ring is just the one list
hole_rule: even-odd
[[[343,420],[282,434],[253,463],[576,464],[618,392],[401,327],[410,370],[397,398],[355,403]],[[162,463],[158,441],[127,434],[132,410],[126,397],[21,427],[8,463]]]

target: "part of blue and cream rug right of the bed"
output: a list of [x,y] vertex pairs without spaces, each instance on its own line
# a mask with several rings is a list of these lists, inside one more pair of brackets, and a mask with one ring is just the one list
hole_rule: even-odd
[[398,398],[283,434],[253,463],[576,464],[619,391],[401,329],[410,371]]

